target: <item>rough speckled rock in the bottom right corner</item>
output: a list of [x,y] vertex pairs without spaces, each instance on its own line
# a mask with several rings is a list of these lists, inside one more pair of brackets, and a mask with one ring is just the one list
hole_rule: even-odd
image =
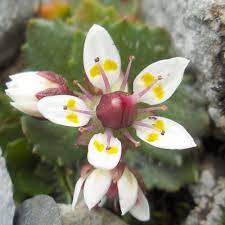
[[200,181],[191,186],[196,207],[183,225],[222,225],[225,222],[224,164],[210,158],[204,162]]

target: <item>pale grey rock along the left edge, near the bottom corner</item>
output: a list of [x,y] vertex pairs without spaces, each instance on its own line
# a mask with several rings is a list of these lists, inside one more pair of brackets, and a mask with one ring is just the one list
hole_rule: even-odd
[[0,224],[12,225],[15,212],[12,182],[6,169],[5,159],[0,148]]

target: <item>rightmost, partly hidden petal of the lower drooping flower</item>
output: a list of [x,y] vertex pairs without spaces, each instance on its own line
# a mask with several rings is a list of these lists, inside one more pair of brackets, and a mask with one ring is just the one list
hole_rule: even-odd
[[130,210],[130,214],[140,221],[150,220],[150,209],[148,200],[143,191],[139,188],[138,199],[134,207]]

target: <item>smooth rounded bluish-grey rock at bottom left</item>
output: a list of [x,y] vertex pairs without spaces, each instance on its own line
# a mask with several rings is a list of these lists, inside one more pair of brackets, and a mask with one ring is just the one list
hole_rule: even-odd
[[59,208],[52,197],[35,196],[16,210],[14,225],[62,225]]

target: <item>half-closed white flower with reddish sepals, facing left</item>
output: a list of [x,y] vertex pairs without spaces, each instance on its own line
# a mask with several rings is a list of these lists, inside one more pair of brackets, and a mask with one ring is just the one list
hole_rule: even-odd
[[9,78],[5,92],[13,100],[11,105],[34,117],[42,117],[37,108],[39,99],[67,90],[66,81],[49,71],[23,72]]

